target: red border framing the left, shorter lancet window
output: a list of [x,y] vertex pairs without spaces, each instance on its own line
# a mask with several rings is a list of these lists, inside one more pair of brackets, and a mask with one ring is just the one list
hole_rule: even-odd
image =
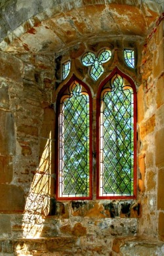
[[[66,90],[67,87],[69,87],[73,81],[77,81],[77,83],[79,83],[80,85],[82,85],[83,87],[85,87],[85,89],[87,90],[87,93],[89,95],[89,196],[87,197],[60,197],[59,196],[59,171],[58,171],[58,157],[59,157],[59,145],[58,145],[58,125],[59,125],[59,110],[60,110],[60,98],[63,95],[64,91]],[[91,200],[92,199],[92,95],[91,95],[91,91],[89,89],[89,87],[83,83],[83,81],[81,81],[80,79],[78,79],[74,74],[72,75],[72,77],[70,78],[70,80],[66,83],[66,85],[64,85],[62,87],[62,89],[60,89],[57,99],[56,99],[56,200]]]

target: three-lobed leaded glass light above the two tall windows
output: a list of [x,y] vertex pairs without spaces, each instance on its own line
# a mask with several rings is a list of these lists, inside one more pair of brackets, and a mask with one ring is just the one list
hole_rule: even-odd
[[104,73],[102,63],[108,62],[112,56],[109,49],[103,49],[98,53],[96,57],[94,53],[85,53],[82,57],[82,63],[84,66],[91,66],[89,74],[95,81]]

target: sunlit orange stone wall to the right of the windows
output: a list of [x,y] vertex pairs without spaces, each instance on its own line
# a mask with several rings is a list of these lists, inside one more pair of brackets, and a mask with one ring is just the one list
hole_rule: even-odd
[[[138,167],[142,217],[138,232],[163,236],[163,21],[147,38],[142,52],[142,85],[138,89]],[[151,231],[150,231],[151,230]]]

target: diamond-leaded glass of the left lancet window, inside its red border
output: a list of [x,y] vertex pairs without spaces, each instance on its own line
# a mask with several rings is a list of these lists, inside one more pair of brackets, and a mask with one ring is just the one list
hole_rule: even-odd
[[89,196],[89,95],[76,81],[60,103],[60,197]]

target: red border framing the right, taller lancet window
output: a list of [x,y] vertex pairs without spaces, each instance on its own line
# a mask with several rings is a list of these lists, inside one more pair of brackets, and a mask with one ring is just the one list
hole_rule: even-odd
[[[115,74],[119,74],[121,75],[121,77],[124,77],[125,79],[127,79],[127,81],[129,81],[132,89],[133,89],[133,95],[134,95],[134,167],[133,167],[133,195],[132,196],[99,196],[99,190],[100,190],[100,94],[102,91],[102,88],[104,87],[104,85],[106,85],[106,83],[108,83],[108,81],[110,81],[110,79],[115,75]],[[97,105],[97,112],[96,112],[96,156],[97,156],[97,165],[96,165],[96,199],[98,200],[125,200],[125,199],[136,199],[137,196],[137,173],[136,173],[136,162],[137,162],[137,135],[136,135],[136,117],[137,117],[137,109],[136,109],[136,87],[134,84],[133,79],[131,79],[131,77],[129,77],[129,75],[124,74],[123,72],[121,72],[121,70],[119,70],[119,68],[117,68],[117,66],[114,68],[114,70],[112,71],[112,73],[110,75],[108,75],[108,77],[106,77],[104,79],[104,81],[102,81],[102,83],[100,83],[100,86],[98,88],[97,91],[97,98],[96,98],[96,105]]]

